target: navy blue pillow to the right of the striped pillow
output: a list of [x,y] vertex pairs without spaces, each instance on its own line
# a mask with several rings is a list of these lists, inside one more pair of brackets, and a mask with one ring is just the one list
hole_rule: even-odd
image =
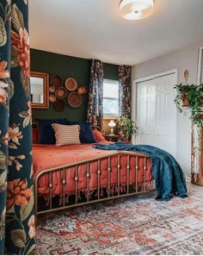
[[66,123],[68,125],[78,124],[80,126],[81,143],[96,143],[95,136],[92,133],[92,127],[89,122],[67,121]]

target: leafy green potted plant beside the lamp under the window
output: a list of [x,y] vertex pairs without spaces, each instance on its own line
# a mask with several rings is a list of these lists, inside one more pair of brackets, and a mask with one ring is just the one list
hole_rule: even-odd
[[129,117],[121,116],[118,121],[118,130],[120,134],[120,140],[129,142],[132,138],[132,134],[136,133],[138,128]]

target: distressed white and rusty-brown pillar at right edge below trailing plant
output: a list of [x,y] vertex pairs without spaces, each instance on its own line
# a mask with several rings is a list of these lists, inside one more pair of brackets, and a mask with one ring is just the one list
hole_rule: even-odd
[[[199,118],[203,119],[203,116]],[[192,130],[191,183],[203,186],[203,126],[197,124]]]

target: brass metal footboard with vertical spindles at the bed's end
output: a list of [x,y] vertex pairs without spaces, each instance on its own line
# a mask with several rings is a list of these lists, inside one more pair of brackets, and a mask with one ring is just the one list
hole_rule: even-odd
[[[125,193],[121,193],[120,189],[121,189],[121,182],[120,182],[120,158],[121,156],[126,155],[126,191]],[[116,184],[117,186],[117,191],[116,194],[115,193],[111,193],[111,171],[112,171],[112,167],[111,167],[111,159],[112,158],[117,158],[117,172],[118,172],[118,183]],[[130,169],[131,169],[131,165],[130,165],[130,160],[134,158],[135,159],[135,184],[133,184],[133,191],[131,191],[131,185],[130,184]],[[139,158],[143,158],[144,159],[144,167],[143,168],[143,172],[144,172],[144,183],[142,184],[142,187],[140,189],[140,186],[138,184],[138,172],[140,171],[140,166],[139,166]],[[102,159],[108,159],[108,186],[107,186],[107,197],[102,197],[101,196],[101,192],[102,192],[102,187],[101,187],[101,161]],[[150,159],[149,156],[142,154],[142,153],[133,153],[133,152],[113,152],[108,154],[108,156],[103,156],[103,157],[97,157],[97,158],[92,158],[92,159],[88,159],[88,160],[83,160],[83,161],[78,161],[76,163],[70,164],[70,165],[62,165],[62,166],[57,166],[48,170],[44,170],[42,172],[40,172],[39,174],[37,174],[34,177],[34,202],[35,202],[35,218],[36,218],[36,223],[37,223],[37,216],[41,215],[41,214],[45,214],[48,212],[52,212],[52,211],[56,211],[56,210],[62,210],[62,209],[70,209],[73,207],[77,207],[77,206],[82,206],[82,205],[86,205],[89,203],[98,203],[98,202],[103,202],[109,199],[115,199],[115,198],[120,198],[120,197],[127,197],[127,196],[132,196],[132,195],[137,195],[140,193],[145,193],[145,192],[149,192],[151,190],[154,190],[154,183],[153,183],[153,179],[149,182],[146,182],[146,170],[147,170],[147,159]],[[89,165],[92,162],[97,161],[97,188],[96,188],[96,194],[95,197],[92,199],[90,198],[91,196],[91,191],[89,190],[89,178],[90,178],[90,170],[89,170]],[[85,202],[80,202],[79,198],[78,198],[78,167],[80,165],[86,165],[86,188],[85,188],[85,196],[86,196],[86,201]],[[75,172],[74,172],[74,183],[75,183],[75,192],[74,192],[74,202],[67,205],[67,203],[65,202],[65,196],[67,195],[66,191],[65,191],[65,185],[66,185],[66,172],[68,172],[69,168],[75,168]],[[52,205],[52,188],[53,188],[53,183],[52,183],[52,174],[53,172],[61,172],[61,184],[62,184],[62,188],[63,188],[63,195],[62,195],[62,200],[61,200],[61,205],[59,205],[58,207],[55,207]],[[48,209],[43,209],[43,210],[39,210],[39,191],[38,191],[38,183],[39,183],[39,179],[43,176],[43,175],[48,175],[49,177],[49,195],[47,195],[48,197]]]

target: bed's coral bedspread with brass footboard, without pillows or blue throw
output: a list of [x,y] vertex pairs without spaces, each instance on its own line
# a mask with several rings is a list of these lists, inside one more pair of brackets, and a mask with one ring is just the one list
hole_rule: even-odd
[[94,144],[33,146],[35,216],[154,190],[151,158]]

